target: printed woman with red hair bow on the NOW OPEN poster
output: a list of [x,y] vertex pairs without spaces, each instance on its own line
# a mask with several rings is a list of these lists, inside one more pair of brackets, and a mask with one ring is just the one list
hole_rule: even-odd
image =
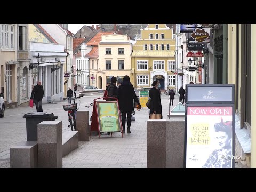
[[215,150],[212,151],[204,168],[231,168],[232,164],[232,121],[223,122],[214,125]]

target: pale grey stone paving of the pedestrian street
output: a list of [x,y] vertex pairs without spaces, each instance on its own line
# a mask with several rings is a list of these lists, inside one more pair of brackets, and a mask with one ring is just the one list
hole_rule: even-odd
[[[78,87],[78,91],[82,87]],[[86,108],[99,95],[86,95],[80,99],[79,110],[89,110],[92,115],[92,107]],[[161,95],[163,118],[167,118],[168,97]],[[67,101],[57,104],[43,104],[44,112],[54,113],[58,120],[62,121],[62,132],[70,131],[68,128],[67,112],[62,105]],[[178,103],[178,97],[174,99],[174,107]],[[79,106],[79,101],[78,101]],[[0,118],[0,167],[10,167],[10,148],[21,141],[26,141],[26,119],[22,118],[26,113],[35,112],[35,107],[18,107],[6,109],[5,117]],[[79,141],[79,147],[63,157],[63,167],[147,167],[147,119],[148,109],[142,108],[135,111],[135,121],[131,125],[131,134],[120,132],[113,133],[110,137],[106,133],[90,138],[90,141]],[[90,124],[91,122],[89,122]],[[127,129],[127,123],[126,123]],[[235,167],[245,167],[241,162],[235,163]],[[247,167],[247,166],[246,166]]]

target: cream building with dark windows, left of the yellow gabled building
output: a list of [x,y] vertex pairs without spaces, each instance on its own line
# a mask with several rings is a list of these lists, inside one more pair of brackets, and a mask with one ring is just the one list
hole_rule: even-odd
[[97,86],[106,89],[111,77],[117,78],[117,86],[131,72],[131,43],[127,35],[104,34],[99,43],[98,68],[90,74],[97,78]]

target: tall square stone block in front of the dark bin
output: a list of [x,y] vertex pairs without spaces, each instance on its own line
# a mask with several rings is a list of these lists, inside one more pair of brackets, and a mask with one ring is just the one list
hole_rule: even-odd
[[62,122],[37,125],[38,168],[62,168]]

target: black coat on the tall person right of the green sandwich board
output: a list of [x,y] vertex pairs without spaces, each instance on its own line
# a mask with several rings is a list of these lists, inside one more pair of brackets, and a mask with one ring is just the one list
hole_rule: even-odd
[[123,81],[118,88],[118,102],[121,111],[131,112],[134,110],[133,99],[140,103],[134,91],[134,87],[129,81]]

